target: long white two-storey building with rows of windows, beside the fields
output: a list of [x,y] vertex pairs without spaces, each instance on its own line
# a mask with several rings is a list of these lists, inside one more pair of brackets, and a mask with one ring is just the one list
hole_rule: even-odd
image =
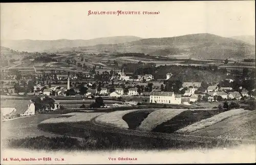
[[181,104],[181,96],[175,96],[174,92],[151,92],[150,102],[157,104]]

